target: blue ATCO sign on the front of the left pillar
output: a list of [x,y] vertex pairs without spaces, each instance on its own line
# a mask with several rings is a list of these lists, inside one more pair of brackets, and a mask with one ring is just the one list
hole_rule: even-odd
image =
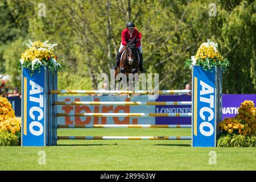
[[22,115],[22,146],[45,146],[44,67],[41,67],[40,73],[35,72],[36,76],[31,77],[30,71],[25,68],[23,68],[22,74],[22,107],[24,111]]

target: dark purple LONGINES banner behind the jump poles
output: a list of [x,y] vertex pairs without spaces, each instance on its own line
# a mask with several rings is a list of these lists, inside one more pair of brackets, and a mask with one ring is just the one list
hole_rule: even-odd
[[[160,95],[157,102],[191,101],[188,94]],[[155,113],[192,113],[191,105],[183,106],[155,106]],[[191,125],[191,117],[156,117],[156,125]]]

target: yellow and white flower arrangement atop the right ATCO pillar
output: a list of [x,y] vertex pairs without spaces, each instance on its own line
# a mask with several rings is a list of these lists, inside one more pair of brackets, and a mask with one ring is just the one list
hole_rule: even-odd
[[192,69],[193,65],[199,65],[205,71],[211,71],[215,66],[222,67],[225,72],[229,61],[218,52],[218,44],[207,39],[197,50],[196,56],[191,56],[191,59],[185,61],[184,67]]

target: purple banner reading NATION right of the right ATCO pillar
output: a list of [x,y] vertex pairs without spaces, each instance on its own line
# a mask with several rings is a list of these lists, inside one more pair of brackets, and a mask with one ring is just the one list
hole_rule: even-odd
[[256,94],[224,94],[222,97],[222,120],[235,117],[238,108],[245,100],[251,100],[256,104]]

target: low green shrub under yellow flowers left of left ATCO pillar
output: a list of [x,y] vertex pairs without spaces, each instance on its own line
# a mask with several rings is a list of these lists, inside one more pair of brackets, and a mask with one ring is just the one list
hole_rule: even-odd
[[0,146],[19,146],[19,137],[7,131],[0,133]]

